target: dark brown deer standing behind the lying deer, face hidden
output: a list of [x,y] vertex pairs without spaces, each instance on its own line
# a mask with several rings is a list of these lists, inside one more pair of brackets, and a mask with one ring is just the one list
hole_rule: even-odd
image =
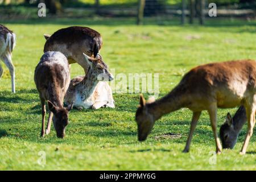
[[78,63],[87,71],[89,65],[84,60],[82,53],[96,57],[102,47],[102,38],[99,32],[88,27],[68,27],[56,31],[53,35],[44,34],[46,43],[44,52],[62,52],[69,64]]

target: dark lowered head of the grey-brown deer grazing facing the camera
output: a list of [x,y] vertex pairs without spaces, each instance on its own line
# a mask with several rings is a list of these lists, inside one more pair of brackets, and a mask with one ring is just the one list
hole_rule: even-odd
[[65,137],[65,129],[68,125],[68,112],[72,109],[73,104],[68,105],[67,107],[57,107],[51,101],[48,102],[49,110],[53,113],[53,125],[56,130],[58,138]]

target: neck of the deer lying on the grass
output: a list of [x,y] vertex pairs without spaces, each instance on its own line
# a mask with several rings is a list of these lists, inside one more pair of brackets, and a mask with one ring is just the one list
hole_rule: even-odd
[[97,75],[94,74],[92,68],[89,67],[84,79],[81,81],[80,87],[82,96],[85,96],[84,100],[92,95],[98,82]]

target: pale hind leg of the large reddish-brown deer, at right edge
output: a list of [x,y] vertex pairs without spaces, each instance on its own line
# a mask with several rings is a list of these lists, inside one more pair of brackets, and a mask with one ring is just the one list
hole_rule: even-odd
[[246,116],[247,116],[247,134],[245,137],[245,142],[243,142],[243,146],[240,152],[241,155],[246,153],[246,148],[249,144],[249,140],[253,135],[253,127],[255,125],[255,109],[252,110],[250,107],[246,107]]

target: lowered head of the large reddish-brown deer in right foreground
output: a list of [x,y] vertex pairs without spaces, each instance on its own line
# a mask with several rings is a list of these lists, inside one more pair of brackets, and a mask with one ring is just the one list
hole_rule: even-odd
[[146,140],[155,124],[155,119],[152,114],[148,113],[148,106],[143,95],[140,96],[139,107],[136,112],[135,120],[138,125],[139,141]]

